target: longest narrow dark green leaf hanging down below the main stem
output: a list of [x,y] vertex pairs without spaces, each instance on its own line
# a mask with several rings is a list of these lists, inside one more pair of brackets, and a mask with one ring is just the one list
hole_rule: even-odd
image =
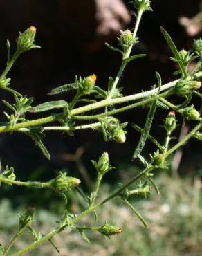
[[152,105],[150,107],[149,113],[147,115],[147,120],[146,120],[146,123],[145,123],[145,127],[144,127],[143,132],[142,132],[142,134],[140,136],[140,140],[139,140],[139,143],[138,143],[138,145],[136,147],[136,150],[134,152],[133,159],[138,157],[138,155],[142,152],[143,147],[145,146],[147,137],[149,135],[149,131],[150,131],[151,126],[152,126],[152,121],[153,121],[153,118],[154,118],[154,113],[156,111],[156,102],[157,102],[157,100],[154,100],[152,102]]

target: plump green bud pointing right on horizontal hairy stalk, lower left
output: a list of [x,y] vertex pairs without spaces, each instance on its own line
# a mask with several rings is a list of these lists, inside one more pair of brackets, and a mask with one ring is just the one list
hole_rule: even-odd
[[49,181],[49,185],[50,188],[62,192],[79,185],[80,182],[79,179],[66,176],[66,172],[59,172],[59,175],[55,179]]

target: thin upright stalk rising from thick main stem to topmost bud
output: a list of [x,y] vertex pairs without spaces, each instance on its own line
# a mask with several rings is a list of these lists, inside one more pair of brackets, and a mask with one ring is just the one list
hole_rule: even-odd
[[[138,33],[138,27],[140,26],[140,21],[143,15],[143,10],[138,10],[138,15],[137,15],[137,19],[136,19],[136,26],[134,28],[134,33],[133,33],[133,39],[136,38],[136,35]],[[127,49],[124,58],[126,59],[127,57],[129,57],[131,55],[131,51],[133,48],[133,44],[131,44],[131,46],[129,46],[129,48]],[[120,80],[120,77],[122,76],[123,71],[125,70],[125,67],[127,66],[127,62],[125,62],[125,60],[122,61],[122,64],[118,70],[118,74],[116,75],[116,79],[113,82],[113,86],[111,87],[111,91],[108,95],[108,99],[111,99],[111,95],[113,95],[113,91],[116,89],[116,86]]]

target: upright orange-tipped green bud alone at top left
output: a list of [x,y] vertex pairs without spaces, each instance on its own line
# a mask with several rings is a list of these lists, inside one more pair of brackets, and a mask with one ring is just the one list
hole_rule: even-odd
[[19,37],[17,38],[17,49],[19,52],[23,53],[25,51],[29,51],[32,48],[40,48],[34,44],[36,35],[36,28],[34,26],[30,26],[24,33],[19,33]]

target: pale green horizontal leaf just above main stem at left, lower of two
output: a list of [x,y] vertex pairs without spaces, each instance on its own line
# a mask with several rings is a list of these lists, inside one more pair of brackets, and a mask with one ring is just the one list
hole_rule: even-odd
[[39,104],[36,107],[31,107],[30,112],[38,113],[38,112],[48,111],[50,109],[61,109],[61,108],[68,109],[68,103],[65,100],[50,101],[50,102]]

